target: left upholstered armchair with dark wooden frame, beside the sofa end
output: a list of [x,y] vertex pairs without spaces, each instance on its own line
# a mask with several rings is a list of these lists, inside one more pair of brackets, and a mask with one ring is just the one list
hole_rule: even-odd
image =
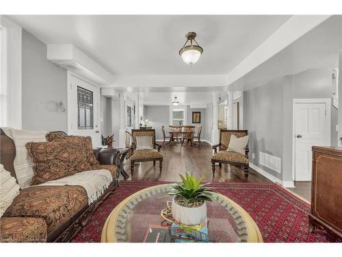
[[[152,149],[137,149],[137,137],[150,136],[152,138]],[[153,166],[159,161],[159,171],[163,169],[163,154],[160,153],[161,145],[155,142],[155,130],[132,130],[131,145],[131,175],[134,172],[135,162],[151,162]]]

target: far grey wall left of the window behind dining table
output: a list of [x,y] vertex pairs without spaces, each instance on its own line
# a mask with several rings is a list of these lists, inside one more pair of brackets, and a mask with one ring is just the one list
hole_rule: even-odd
[[161,126],[164,125],[168,130],[170,123],[170,106],[144,106],[144,119],[148,119],[148,124],[155,129],[157,140],[163,139]]

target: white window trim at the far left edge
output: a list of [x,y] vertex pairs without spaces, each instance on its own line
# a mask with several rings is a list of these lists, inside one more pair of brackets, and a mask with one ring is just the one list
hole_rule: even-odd
[[6,87],[7,87],[7,126],[22,128],[22,89],[21,89],[21,45],[22,28],[10,19],[1,16],[1,26],[6,34]]

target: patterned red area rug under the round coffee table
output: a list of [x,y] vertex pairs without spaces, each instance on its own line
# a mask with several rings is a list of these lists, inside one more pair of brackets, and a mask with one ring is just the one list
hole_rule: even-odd
[[[73,242],[100,242],[105,220],[120,201],[148,186],[166,182],[123,181],[107,197]],[[168,182],[169,183],[169,182]],[[327,232],[308,232],[310,204],[273,183],[211,183],[216,191],[233,199],[257,223],[264,242],[332,242]]]

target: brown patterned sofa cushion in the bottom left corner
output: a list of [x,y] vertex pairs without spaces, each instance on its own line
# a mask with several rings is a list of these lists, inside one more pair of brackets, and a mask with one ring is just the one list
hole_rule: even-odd
[[47,223],[42,218],[3,217],[0,219],[1,243],[39,243],[47,241]]

